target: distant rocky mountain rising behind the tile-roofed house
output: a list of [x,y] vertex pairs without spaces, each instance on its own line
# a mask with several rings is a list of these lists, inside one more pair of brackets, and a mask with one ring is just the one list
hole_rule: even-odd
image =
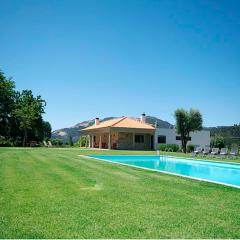
[[[110,120],[113,118],[114,117],[107,117],[107,118],[101,119],[100,121],[106,121],[106,120]],[[134,119],[139,120],[139,118],[134,118]],[[86,120],[86,121],[77,123],[73,127],[61,128],[61,129],[55,130],[52,132],[52,138],[62,139],[64,142],[66,142],[68,140],[68,136],[70,135],[70,136],[72,136],[73,142],[76,142],[79,139],[80,130],[93,125],[94,121],[95,121],[94,119]],[[153,116],[147,116],[146,122],[149,124],[152,124],[152,125],[155,125],[155,123],[157,123],[157,126],[161,127],[161,128],[173,128],[173,125],[170,124],[169,122],[163,121],[163,120],[161,120],[157,117],[153,117]]]

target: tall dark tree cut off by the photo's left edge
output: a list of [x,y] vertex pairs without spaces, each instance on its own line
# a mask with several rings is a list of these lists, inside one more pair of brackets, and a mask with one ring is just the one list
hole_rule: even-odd
[[0,70],[0,135],[9,137],[9,120],[14,106],[15,83]]

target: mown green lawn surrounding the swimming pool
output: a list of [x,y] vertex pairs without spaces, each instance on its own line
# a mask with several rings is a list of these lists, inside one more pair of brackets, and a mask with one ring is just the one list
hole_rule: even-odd
[[239,189],[90,152],[155,154],[1,148],[0,238],[240,238]]

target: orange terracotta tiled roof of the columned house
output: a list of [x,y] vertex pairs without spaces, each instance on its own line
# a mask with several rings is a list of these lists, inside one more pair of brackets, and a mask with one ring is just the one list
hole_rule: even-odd
[[98,125],[92,125],[84,128],[81,131],[94,130],[99,128],[141,128],[141,129],[155,129],[148,123],[141,123],[140,121],[134,120],[128,117],[114,118],[104,122],[100,122]]

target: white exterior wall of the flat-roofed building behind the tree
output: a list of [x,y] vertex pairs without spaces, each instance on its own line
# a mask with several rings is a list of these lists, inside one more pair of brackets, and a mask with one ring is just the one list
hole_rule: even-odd
[[[156,128],[154,141],[155,149],[158,145],[158,136],[166,136],[166,144],[178,144],[181,146],[181,140],[176,140],[176,136],[179,136],[179,134],[176,133],[175,129]],[[190,132],[190,137],[191,141],[188,141],[188,145],[199,145],[201,147],[210,145],[210,131],[202,130]]]

